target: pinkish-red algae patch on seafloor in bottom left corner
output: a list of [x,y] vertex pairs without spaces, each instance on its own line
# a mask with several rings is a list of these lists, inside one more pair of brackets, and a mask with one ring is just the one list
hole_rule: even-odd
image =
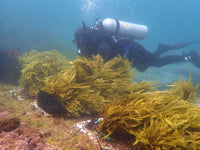
[[0,119],[0,149],[58,150],[47,144],[40,133],[19,118]]

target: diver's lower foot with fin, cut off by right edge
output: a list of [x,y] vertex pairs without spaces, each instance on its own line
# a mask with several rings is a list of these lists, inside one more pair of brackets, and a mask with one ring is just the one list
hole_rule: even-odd
[[200,56],[195,50],[192,50],[187,55],[184,55],[184,59],[193,63],[195,67],[200,68]]

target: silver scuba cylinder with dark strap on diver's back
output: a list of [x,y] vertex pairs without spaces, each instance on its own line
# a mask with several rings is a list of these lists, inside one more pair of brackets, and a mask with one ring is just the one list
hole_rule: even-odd
[[148,27],[145,25],[124,22],[112,18],[104,19],[102,25],[106,32],[116,33],[123,37],[145,39],[148,34]]

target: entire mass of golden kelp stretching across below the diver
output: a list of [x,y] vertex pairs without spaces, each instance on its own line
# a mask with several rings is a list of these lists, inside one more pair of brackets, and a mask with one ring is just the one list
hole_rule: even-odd
[[49,53],[32,51],[19,59],[20,85],[30,95],[42,89],[55,96],[70,117],[100,114],[104,138],[124,137],[135,148],[200,149],[200,108],[191,103],[198,86],[191,79],[152,91],[151,82],[131,81],[131,64],[120,56],[106,63],[99,55],[79,58],[68,67]]

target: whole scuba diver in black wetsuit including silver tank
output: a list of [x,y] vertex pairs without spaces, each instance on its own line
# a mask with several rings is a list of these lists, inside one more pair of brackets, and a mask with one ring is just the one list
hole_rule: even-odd
[[166,55],[161,54],[170,50],[180,49],[195,42],[182,42],[174,45],[159,44],[154,53],[147,51],[142,45],[133,39],[144,39],[148,28],[138,25],[107,18],[103,21],[97,19],[96,23],[89,28],[82,22],[74,34],[74,43],[78,47],[80,56],[90,58],[100,54],[104,61],[108,61],[118,55],[127,58],[132,66],[138,71],[144,72],[150,66],[161,67],[179,62],[191,62],[200,68],[200,56],[194,50],[188,54]]

